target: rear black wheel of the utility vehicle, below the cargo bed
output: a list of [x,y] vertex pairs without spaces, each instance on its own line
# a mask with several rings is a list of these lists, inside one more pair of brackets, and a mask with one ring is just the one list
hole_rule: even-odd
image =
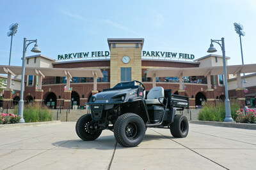
[[185,138],[188,135],[188,118],[184,115],[175,115],[174,122],[170,127],[172,136],[175,138]]

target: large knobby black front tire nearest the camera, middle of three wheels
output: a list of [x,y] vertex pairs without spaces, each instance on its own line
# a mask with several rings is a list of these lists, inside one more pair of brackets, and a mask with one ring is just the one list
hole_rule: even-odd
[[139,145],[145,136],[145,131],[142,118],[134,113],[125,113],[118,117],[114,125],[116,141],[124,147]]

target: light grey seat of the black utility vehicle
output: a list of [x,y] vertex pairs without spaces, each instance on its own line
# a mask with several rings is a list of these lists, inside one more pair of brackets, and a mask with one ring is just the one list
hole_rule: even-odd
[[[146,104],[161,104],[164,101],[164,98],[159,99],[159,97],[164,97],[163,87],[153,87],[145,99]],[[161,101],[161,103],[159,102]]]

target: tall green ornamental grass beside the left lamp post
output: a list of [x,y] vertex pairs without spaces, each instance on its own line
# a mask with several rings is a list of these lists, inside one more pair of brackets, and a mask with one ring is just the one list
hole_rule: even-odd
[[[13,113],[18,113],[19,106],[14,108]],[[40,106],[39,104],[28,104],[24,106],[23,118],[25,122],[46,122],[52,121],[51,110],[46,106]]]

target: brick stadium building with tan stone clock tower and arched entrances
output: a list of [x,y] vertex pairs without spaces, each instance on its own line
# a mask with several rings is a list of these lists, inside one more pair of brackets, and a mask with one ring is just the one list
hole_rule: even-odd
[[[201,106],[204,101],[225,100],[222,56],[207,55],[192,60],[194,56],[189,54],[145,52],[143,43],[141,38],[108,39],[110,53],[92,52],[91,56],[89,52],[70,53],[59,55],[59,60],[44,55],[26,57],[24,101],[43,103],[53,109],[68,106],[83,109],[93,94],[131,80],[142,81],[146,90],[161,86],[172,89],[173,94],[188,96],[190,108]],[[256,72],[255,66],[249,65],[228,66],[228,74],[237,75],[232,79],[237,85],[230,89],[230,95],[242,104],[246,101],[244,89],[236,82],[241,82],[240,73]],[[1,73],[8,74],[3,106],[11,99],[13,104],[19,101],[20,91],[13,91],[10,85],[12,75],[19,74],[19,70],[21,67],[0,67]]]

